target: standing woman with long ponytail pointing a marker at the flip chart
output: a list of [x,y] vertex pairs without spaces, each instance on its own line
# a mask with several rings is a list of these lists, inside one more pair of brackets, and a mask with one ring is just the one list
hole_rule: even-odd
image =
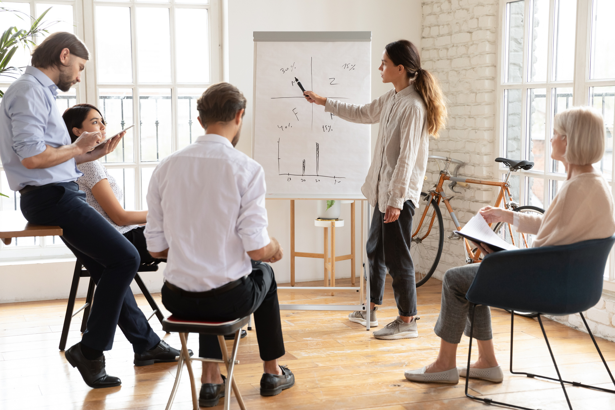
[[[370,326],[378,326],[376,305],[381,305],[387,269],[399,316],[374,332],[378,339],[418,337],[416,328],[415,267],[410,257],[412,217],[421,198],[427,167],[429,135],[444,127],[446,105],[434,76],[421,68],[416,46],[407,40],[384,47],[378,68],[383,82],[394,89],[371,101],[354,105],[306,91],[310,103],[325,106],[341,119],[359,124],[380,123],[370,170],[361,188],[374,213],[367,240],[370,261]],[[358,310],[349,320],[367,325],[366,312]]]

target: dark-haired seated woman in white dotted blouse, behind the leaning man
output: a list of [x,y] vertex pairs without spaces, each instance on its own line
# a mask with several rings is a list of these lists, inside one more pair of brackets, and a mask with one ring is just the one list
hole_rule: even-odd
[[[98,108],[92,104],[76,104],[66,109],[62,115],[71,141],[75,141],[84,132],[100,132],[106,140],[106,124]],[[119,143],[124,132],[108,140],[106,144]],[[124,193],[117,181],[99,161],[84,162],[77,165],[83,175],[77,179],[79,189],[85,192],[85,200],[100,212],[117,231],[126,237],[141,256],[141,263],[153,262],[147,250],[143,230],[148,211],[127,211],[122,205]]]

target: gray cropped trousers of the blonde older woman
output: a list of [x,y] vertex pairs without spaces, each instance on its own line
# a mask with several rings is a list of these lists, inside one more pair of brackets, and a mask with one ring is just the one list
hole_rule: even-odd
[[[453,267],[446,270],[442,282],[442,304],[434,332],[445,342],[458,344],[461,334],[470,336],[470,302],[467,290],[472,285],[479,264]],[[491,310],[488,306],[476,306],[472,337],[480,341],[493,339],[491,334]]]

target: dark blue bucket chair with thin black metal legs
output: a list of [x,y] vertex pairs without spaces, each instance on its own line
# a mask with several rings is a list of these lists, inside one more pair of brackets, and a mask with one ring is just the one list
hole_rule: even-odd
[[[551,350],[547,333],[542,325],[541,315],[565,316],[579,313],[592,338],[593,345],[598,351],[606,372],[615,385],[611,369],[587,326],[583,313],[595,306],[602,294],[603,275],[609,252],[613,248],[615,235],[605,239],[585,240],[570,245],[541,246],[512,251],[499,251],[485,256],[474,282],[466,293],[470,301],[470,348],[467,358],[466,374],[470,374],[470,355],[472,354],[472,331],[474,330],[474,308],[478,305],[499,307],[510,310],[510,373],[523,374],[527,377],[540,377],[541,379],[560,382],[566,396],[568,408],[572,405],[564,384],[578,387],[592,388],[601,392],[615,393],[615,390],[569,382],[561,378],[560,369],[555,363],[555,356]],[[512,342],[514,331],[514,310],[521,312],[538,313],[538,322],[542,330],[547,348],[551,355],[557,379],[554,377],[539,376],[538,374],[516,372],[512,369]],[[466,377],[466,396],[488,404],[498,404],[517,409],[533,410],[514,404],[501,403],[490,398],[478,398],[470,395]]]

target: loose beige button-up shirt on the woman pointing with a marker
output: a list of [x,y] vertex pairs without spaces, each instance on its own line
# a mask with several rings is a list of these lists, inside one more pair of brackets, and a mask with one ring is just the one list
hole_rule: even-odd
[[370,170],[361,192],[381,212],[387,206],[403,208],[410,199],[415,206],[429,155],[427,109],[423,98],[409,85],[399,93],[390,90],[370,104],[354,105],[327,98],[325,112],[358,124],[380,123]]

